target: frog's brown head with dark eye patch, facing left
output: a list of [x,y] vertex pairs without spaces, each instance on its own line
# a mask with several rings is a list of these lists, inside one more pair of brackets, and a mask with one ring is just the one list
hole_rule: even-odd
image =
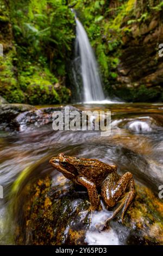
[[52,157],[49,164],[52,164],[53,168],[59,170],[66,178],[71,180],[78,175],[77,162],[77,157],[66,156],[64,153],[60,153],[57,157]]

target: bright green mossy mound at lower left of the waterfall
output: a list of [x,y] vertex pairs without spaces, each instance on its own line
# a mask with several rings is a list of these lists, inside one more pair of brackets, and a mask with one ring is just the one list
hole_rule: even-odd
[[[33,66],[33,69],[27,68],[18,76],[18,82],[27,94],[27,102],[30,104],[55,104],[70,101],[70,89],[61,86],[48,68],[41,69],[38,66]],[[56,90],[55,84],[59,84]]]

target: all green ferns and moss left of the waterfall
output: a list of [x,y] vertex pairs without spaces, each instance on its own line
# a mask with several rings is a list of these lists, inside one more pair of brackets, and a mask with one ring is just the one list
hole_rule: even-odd
[[66,1],[1,0],[0,23],[1,95],[9,102],[68,102],[65,77],[75,35],[74,16]]

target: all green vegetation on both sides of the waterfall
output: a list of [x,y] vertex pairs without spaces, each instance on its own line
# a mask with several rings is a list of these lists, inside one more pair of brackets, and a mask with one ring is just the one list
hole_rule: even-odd
[[[140,47],[143,40],[152,36],[154,31],[147,34],[146,30],[153,17],[161,27],[160,0],[0,0],[0,42],[4,46],[4,58],[0,58],[0,95],[9,102],[30,104],[71,100],[70,64],[76,36],[72,6],[95,49],[105,94],[126,101],[162,101],[162,84],[152,81],[148,89],[146,81],[140,79],[159,66],[156,52],[156,64],[152,64],[153,59],[150,63],[148,57],[143,64],[150,67],[145,74],[139,76],[139,69],[136,75],[134,71],[129,76],[120,73],[126,62],[124,51],[132,44]],[[148,47],[156,47],[159,39],[156,40]],[[152,55],[150,49],[147,54]],[[133,62],[134,58],[133,55]]]

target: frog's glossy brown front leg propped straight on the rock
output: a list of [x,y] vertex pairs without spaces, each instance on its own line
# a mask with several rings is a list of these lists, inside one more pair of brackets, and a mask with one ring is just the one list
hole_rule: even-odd
[[92,181],[86,179],[85,177],[78,176],[77,181],[79,182],[79,184],[87,188],[92,210],[98,210],[100,200],[98,197],[96,185]]

